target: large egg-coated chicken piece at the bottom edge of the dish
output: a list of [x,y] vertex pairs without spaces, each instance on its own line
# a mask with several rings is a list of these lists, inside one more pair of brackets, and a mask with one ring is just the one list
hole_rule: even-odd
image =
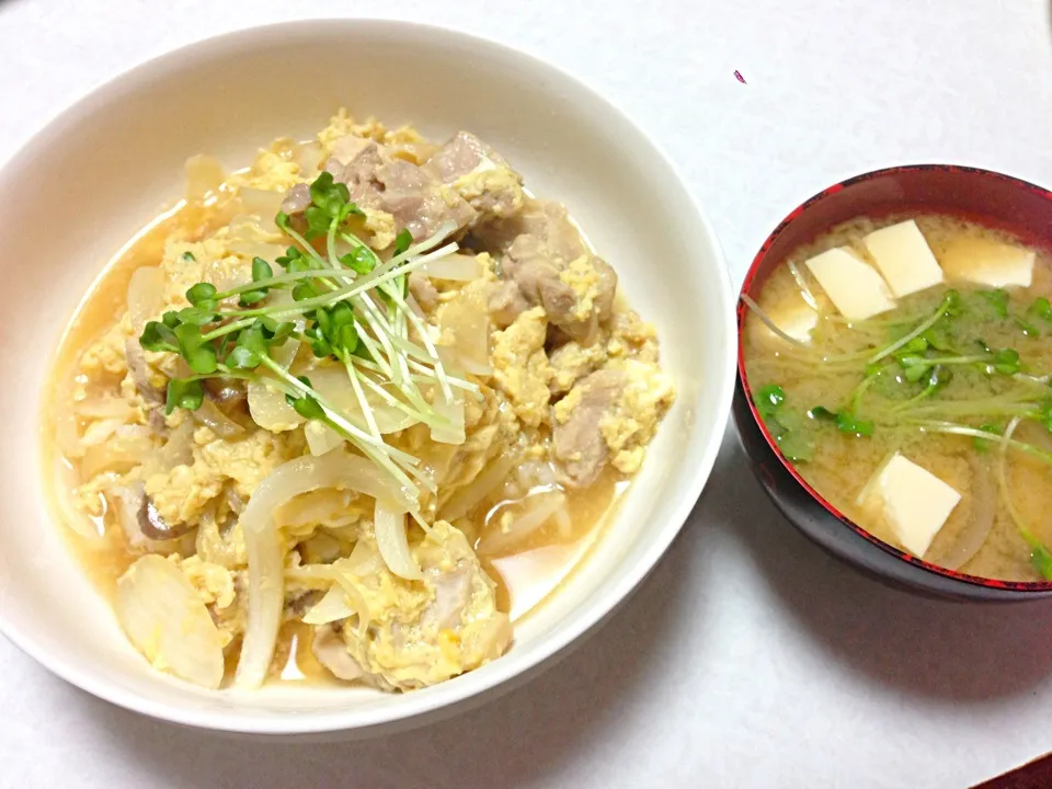
[[[370,533],[361,539],[375,549]],[[332,627],[316,629],[315,654],[336,676],[385,690],[412,690],[504,653],[511,625],[496,608],[496,584],[467,538],[438,521],[412,552],[423,581],[404,581],[386,567],[350,576],[369,610],[365,627],[358,617],[341,624],[344,652],[335,648]]]

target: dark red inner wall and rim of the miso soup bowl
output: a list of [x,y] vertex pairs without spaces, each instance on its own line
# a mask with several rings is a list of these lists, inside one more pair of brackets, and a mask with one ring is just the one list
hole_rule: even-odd
[[[745,276],[742,293],[757,298],[767,277],[797,248],[810,243],[835,225],[858,216],[880,218],[911,211],[940,213],[979,221],[1017,236],[1021,241],[1048,248],[1052,192],[1019,179],[988,170],[951,164],[914,164],[858,175],[820,192],[787,216],[764,242]],[[741,338],[747,308],[737,306]],[[947,579],[964,584],[1017,592],[1052,590],[1052,583],[1007,582],[947,570],[899,550],[854,523],[815,491],[786,459],[752,402],[745,373],[743,344],[739,343],[737,375],[748,398],[752,418],[775,456],[814,501],[845,527],[854,529],[892,556]]]

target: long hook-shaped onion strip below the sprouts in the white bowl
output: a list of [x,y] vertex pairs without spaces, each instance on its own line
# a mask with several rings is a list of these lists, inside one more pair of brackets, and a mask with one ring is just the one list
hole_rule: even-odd
[[408,512],[412,505],[407,493],[374,464],[341,451],[289,460],[260,483],[240,522],[249,560],[249,606],[236,677],[239,687],[263,684],[282,620],[284,562],[274,511],[293,496],[318,488],[356,490],[385,500],[396,512]]

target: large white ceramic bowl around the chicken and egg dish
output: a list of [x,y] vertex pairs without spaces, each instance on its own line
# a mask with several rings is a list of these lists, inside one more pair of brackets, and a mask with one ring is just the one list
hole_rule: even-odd
[[[430,137],[467,128],[570,207],[653,321],[679,395],[592,558],[499,661],[405,695],[358,688],[206,691],[155,672],[69,554],[44,500],[48,352],[104,263],[182,193],[194,153],[235,167],[346,106]],[[0,172],[0,630],[56,674],[156,718],[258,734],[362,734],[507,690],[604,618],[661,558],[701,492],[733,385],[732,296],[712,228],[625,115],[529,56],[384,21],[243,31],[147,62],[50,123]],[[469,701],[470,700],[470,701]]]

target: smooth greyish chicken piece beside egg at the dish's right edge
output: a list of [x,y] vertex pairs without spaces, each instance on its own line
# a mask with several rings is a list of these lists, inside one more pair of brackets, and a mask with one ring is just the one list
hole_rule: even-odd
[[579,381],[556,403],[551,453],[559,481],[570,488],[587,488],[609,459],[603,421],[626,384],[618,369],[597,370]]

